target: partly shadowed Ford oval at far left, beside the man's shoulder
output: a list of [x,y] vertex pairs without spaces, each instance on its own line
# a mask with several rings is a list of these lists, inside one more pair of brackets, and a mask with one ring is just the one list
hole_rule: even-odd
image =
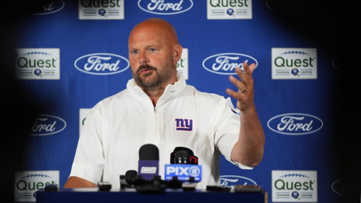
[[51,115],[37,115],[30,135],[51,135],[64,130],[66,122],[64,119]]

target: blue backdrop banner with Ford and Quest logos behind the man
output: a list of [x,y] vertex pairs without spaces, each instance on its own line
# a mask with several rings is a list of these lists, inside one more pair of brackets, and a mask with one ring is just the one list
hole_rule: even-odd
[[228,97],[234,69],[244,61],[256,64],[264,159],[243,170],[222,157],[221,185],[261,185],[268,202],[340,202],[332,22],[324,13],[313,18],[309,2],[292,8],[280,2],[58,0],[29,10],[17,29],[15,74],[29,99],[44,108],[31,123],[26,158],[14,174],[15,201],[34,202],[34,191],[48,183],[64,186],[88,111],[132,77],[131,29],[157,17],[174,25],[184,47],[177,70],[201,91]]

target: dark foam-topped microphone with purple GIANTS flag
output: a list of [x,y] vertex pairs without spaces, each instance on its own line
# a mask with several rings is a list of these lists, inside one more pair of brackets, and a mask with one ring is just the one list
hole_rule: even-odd
[[158,176],[159,150],[154,144],[144,144],[139,148],[138,175],[144,179]]

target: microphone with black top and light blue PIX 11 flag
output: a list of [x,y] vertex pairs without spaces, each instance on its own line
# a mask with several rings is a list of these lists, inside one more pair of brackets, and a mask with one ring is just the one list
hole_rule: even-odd
[[170,164],[164,166],[164,180],[192,181],[202,180],[202,166],[198,157],[187,147],[175,147],[170,153]]

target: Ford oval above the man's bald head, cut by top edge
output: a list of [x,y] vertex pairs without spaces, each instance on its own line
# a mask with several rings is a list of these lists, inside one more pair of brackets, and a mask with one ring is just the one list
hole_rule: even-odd
[[192,9],[192,0],[139,0],[138,7],[151,14],[174,15]]

